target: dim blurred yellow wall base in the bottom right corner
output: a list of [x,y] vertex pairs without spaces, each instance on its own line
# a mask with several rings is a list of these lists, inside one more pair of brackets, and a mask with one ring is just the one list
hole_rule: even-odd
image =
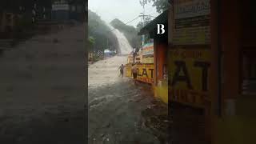
[[236,100],[236,114],[214,118],[213,144],[256,143],[255,102],[255,96],[244,95]]

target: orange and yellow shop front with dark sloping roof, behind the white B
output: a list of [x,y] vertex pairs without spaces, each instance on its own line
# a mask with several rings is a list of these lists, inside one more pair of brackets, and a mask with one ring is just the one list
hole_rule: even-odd
[[[167,74],[167,48],[168,48],[168,34],[157,34],[157,24],[162,23],[167,27],[168,11],[164,11],[157,18],[151,21],[140,30],[139,34],[149,34],[151,39],[154,39],[154,72],[152,87],[154,89],[154,96],[160,98],[162,102],[168,103],[168,74]],[[151,46],[150,46],[151,45]],[[146,54],[152,53],[152,44],[145,47]],[[152,57],[143,56],[144,62],[152,62]],[[143,60],[142,60],[143,61]]]

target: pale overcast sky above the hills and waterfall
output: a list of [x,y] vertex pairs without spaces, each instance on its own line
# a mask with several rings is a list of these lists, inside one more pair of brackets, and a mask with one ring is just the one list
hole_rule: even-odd
[[[138,17],[143,12],[143,7],[139,0],[89,0],[89,10],[97,13],[105,22],[111,22],[114,18],[120,19],[122,22],[130,22]],[[158,16],[158,12],[152,3],[145,6],[145,14],[150,14],[154,17]],[[137,26],[141,18],[130,22],[127,25]]]

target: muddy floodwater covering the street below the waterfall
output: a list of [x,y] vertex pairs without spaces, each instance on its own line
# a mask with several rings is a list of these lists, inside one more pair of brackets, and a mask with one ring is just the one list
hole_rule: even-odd
[[125,63],[126,56],[115,56],[89,66],[89,143],[166,143],[166,105],[150,86],[118,77]]

